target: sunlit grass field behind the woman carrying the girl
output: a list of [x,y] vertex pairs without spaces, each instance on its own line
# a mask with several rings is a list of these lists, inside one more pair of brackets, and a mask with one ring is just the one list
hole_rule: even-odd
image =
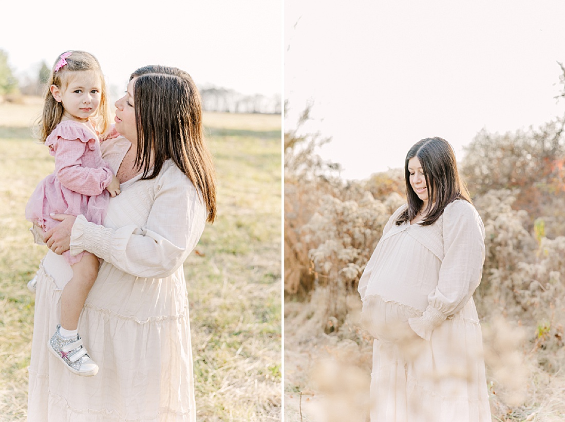
[[[53,158],[31,137],[36,104],[0,104],[0,421],[25,421],[34,296],[45,255],[24,207]],[[185,262],[197,420],[281,419],[280,117],[205,114],[218,218]]]

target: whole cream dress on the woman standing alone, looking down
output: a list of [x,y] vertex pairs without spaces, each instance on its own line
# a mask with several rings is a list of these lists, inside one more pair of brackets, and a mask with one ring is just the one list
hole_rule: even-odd
[[472,294],[483,222],[464,200],[431,226],[390,217],[359,281],[375,337],[372,422],[490,422],[483,339]]

